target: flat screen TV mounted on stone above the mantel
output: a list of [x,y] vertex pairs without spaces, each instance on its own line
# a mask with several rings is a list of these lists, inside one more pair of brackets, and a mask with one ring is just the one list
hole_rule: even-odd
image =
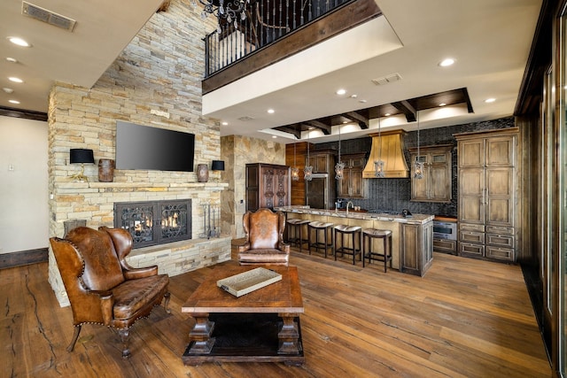
[[193,172],[195,135],[117,121],[116,169]]

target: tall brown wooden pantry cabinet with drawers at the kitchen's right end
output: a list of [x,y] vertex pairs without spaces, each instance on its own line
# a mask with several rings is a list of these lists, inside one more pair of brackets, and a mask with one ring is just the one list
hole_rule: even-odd
[[455,135],[459,255],[515,261],[517,127]]

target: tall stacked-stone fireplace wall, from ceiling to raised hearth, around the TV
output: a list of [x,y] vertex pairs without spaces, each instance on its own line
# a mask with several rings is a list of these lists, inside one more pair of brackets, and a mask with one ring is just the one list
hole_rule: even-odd
[[[158,264],[160,273],[181,274],[230,258],[230,238],[198,240],[203,214],[199,204],[220,204],[220,173],[208,183],[193,173],[118,170],[114,181],[97,182],[97,165],[85,166],[89,182],[73,182],[79,166],[68,163],[71,148],[88,148],[95,159],[114,158],[116,121],[189,132],[195,135],[195,166],[221,158],[220,124],[201,116],[204,73],[202,38],[214,30],[200,8],[181,0],[155,13],[91,88],[57,82],[49,103],[50,236],[63,236],[64,221],[87,220],[87,226],[113,227],[113,203],[192,198],[193,240],[141,251],[133,265]],[[231,230],[223,229],[224,233]],[[50,284],[60,304],[66,292],[50,251]]]

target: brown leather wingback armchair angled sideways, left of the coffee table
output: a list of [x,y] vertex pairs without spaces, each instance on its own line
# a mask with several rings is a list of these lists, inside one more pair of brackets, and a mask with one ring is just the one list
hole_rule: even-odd
[[118,330],[122,358],[128,359],[132,324],[149,316],[164,297],[170,312],[167,274],[158,274],[158,266],[128,266],[132,236],[120,228],[74,228],[66,239],[50,238],[50,244],[73,310],[67,351],[73,351],[83,324],[103,324]]

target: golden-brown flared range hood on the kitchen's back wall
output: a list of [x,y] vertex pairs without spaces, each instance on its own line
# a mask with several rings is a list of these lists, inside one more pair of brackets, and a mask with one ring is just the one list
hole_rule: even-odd
[[[382,159],[384,161],[384,178],[400,179],[409,177],[408,163],[404,157],[404,130],[383,131],[378,135],[369,134],[372,137],[372,148],[369,160],[362,171],[362,178],[376,179],[374,162]],[[381,149],[380,149],[381,147]]]

